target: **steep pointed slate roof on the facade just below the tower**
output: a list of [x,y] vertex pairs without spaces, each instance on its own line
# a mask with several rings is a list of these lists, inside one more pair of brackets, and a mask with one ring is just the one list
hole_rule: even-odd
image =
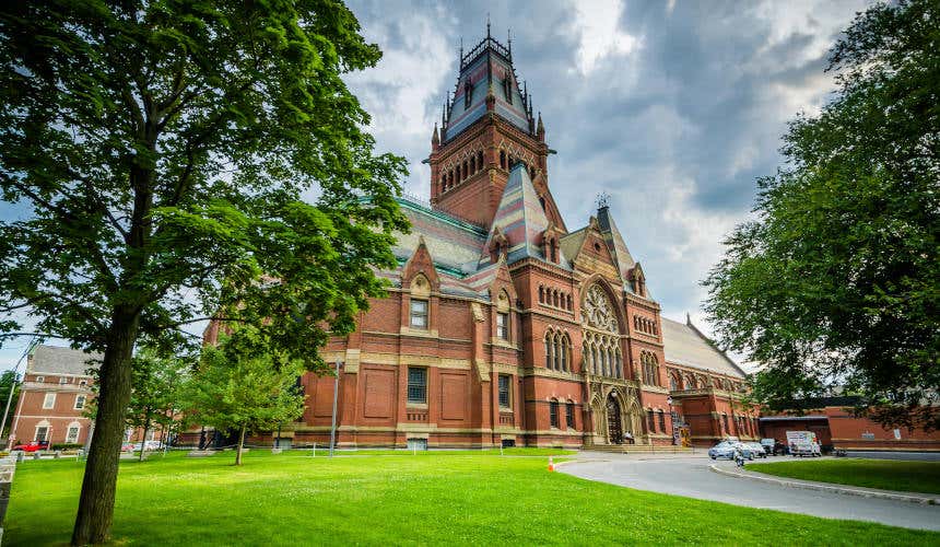
[[[542,210],[542,203],[539,201],[532,181],[529,179],[529,172],[524,164],[517,163],[503,189],[503,197],[493,217],[490,235],[481,249],[479,266],[482,268],[492,264],[490,244],[497,233],[502,233],[509,244],[506,264],[528,257],[544,260],[541,238],[548,228],[549,219]],[[564,256],[560,257],[559,261],[563,267],[567,266]]]

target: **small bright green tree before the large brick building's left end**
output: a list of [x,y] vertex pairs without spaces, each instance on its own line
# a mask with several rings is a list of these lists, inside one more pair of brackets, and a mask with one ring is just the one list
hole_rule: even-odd
[[296,389],[303,362],[270,347],[251,327],[222,334],[218,347],[203,348],[184,388],[185,409],[195,419],[216,431],[238,431],[235,465],[242,465],[247,432],[270,431],[304,412],[305,395]]

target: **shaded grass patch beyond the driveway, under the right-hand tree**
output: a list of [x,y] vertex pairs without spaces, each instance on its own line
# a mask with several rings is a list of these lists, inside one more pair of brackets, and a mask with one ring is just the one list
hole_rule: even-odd
[[837,485],[905,492],[940,493],[940,462],[892,459],[811,459],[751,464],[752,472]]

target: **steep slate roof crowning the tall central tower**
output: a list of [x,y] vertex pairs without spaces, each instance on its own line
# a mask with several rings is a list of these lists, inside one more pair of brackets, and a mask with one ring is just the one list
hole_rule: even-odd
[[495,113],[522,131],[532,133],[532,107],[529,97],[519,89],[512,47],[490,36],[487,25],[486,37],[482,42],[467,55],[462,49],[460,51],[460,73],[454,97],[445,105],[442,141],[454,139],[486,114],[486,95],[491,90]]

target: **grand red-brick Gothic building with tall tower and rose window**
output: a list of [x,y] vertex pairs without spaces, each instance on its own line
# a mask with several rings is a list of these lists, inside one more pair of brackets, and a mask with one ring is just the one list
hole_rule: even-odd
[[[325,348],[344,363],[339,445],[756,437],[740,405],[744,373],[691,322],[660,316],[610,208],[568,230],[510,48],[487,35],[461,51],[448,96],[431,140],[430,202],[400,200],[413,228],[395,247],[399,268],[380,272],[388,298]],[[308,407],[280,435],[325,443],[333,379],[303,385]]]

